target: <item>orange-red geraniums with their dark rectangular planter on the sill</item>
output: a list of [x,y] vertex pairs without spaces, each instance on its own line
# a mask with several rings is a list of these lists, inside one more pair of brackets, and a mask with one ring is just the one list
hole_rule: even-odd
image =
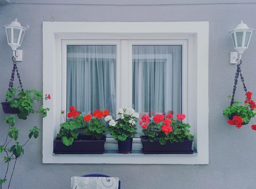
[[[53,141],[53,153],[103,154],[106,136],[103,135],[105,126],[102,121],[109,116],[108,110],[96,110],[93,116],[88,114],[82,117],[81,112],[76,111],[74,106],[69,109],[67,117],[72,119],[60,124],[60,131]],[[64,117],[64,111],[61,114]]]

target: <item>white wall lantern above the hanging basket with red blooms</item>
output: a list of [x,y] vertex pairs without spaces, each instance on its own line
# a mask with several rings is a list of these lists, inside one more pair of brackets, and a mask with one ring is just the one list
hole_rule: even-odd
[[234,49],[239,54],[238,60],[241,60],[243,52],[248,48],[253,31],[254,29],[248,28],[248,26],[244,24],[243,21],[241,21],[241,23],[238,24],[235,29],[229,31],[232,36]]

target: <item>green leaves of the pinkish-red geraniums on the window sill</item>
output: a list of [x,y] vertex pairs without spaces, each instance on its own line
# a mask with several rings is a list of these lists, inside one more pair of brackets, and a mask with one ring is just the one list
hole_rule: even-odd
[[147,128],[142,129],[144,135],[148,136],[148,140],[150,142],[159,141],[161,145],[166,144],[169,140],[170,142],[183,142],[184,139],[193,140],[194,135],[189,134],[190,125],[187,123],[182,123],[175,119],[171,119],[172,123],[171,126],[173,128],[172,132],[168,134],[164,134],[161,130],[161,124],[151,122],[148,124]]

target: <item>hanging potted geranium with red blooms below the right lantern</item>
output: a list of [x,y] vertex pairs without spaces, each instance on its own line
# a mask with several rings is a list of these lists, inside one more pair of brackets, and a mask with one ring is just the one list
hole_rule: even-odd
[[[245,96],[244,105],[239,105],[242,104],[242,102],[235,101],[232,105],[223,110],[223,115],[228,117],[227,123],[236,125],[238,129],[248,124],[250,119],[256,115],[256,112],[253,111],[256,108],[256,104],[251,99],[252,93],[248,91]],[[231,96],[228,96],[228,98],[231,98]],[[254,126],[252,126],[252,129],[253,127]]]

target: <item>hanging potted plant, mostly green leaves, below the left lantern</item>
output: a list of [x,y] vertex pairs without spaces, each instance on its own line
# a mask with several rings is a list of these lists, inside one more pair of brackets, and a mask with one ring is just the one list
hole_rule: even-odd
[[[36,90],[18,90],[20,87],[11,88],[6,92],[6,102],[2,102],[2,108],[4,113],[17,114],[18,118],[26,120],[29,114],[42,113],[42,117],[45,118],[49,108],[44,108],[40,105],[37,110],[33,109],[34,102],[39,100],[51,99],[51,95],[46,94],[43,96],[42,92]],[[16,92],[18,94],[16,95]]]

